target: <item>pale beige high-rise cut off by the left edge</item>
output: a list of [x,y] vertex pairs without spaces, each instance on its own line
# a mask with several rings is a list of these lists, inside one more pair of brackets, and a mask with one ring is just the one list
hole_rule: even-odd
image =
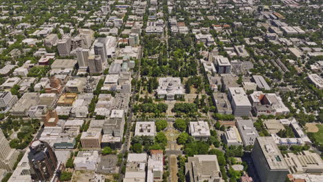
[[9,143],[0,129],[0,169],[11,171],[19,153],[10,148]]

